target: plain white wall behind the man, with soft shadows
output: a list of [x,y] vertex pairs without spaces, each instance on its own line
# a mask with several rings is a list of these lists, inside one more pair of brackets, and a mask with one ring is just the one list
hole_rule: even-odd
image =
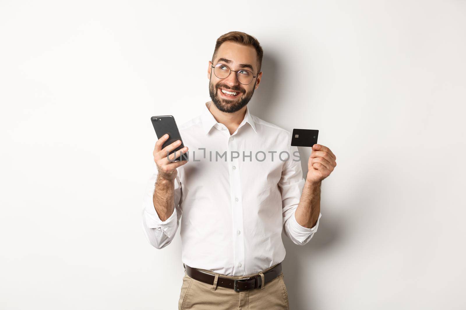
[[177,309],[150,117],[199,114],[232,30],[264,48],[251,112],[337,157],[314,239],[282,236],[291,309],[465,309],[466,2],[167,2],[0,2],[0,309]]

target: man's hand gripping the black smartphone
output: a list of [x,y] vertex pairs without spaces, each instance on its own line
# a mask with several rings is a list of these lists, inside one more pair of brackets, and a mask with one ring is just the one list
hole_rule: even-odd
[[[175,158],[178,158],[181,154],[184,154],[188,151],[188,147],[185,146],[181,150],[170,154],[167,157],[167,154],[176,149],[180,144],[181,140],[173,142],[171,145],[167,145],[162,149],[162,145],[168,139],[168,134],[165,134],[162,138],[158,139],[155,143],[154,148],[154,161],[157,165],[158,178],[164,178],[165,180],[174,180],[178,174],[176,168],[181,165],[185,165],[187,160],[173,161]],[[170,160],[169,160],[170,159]]]

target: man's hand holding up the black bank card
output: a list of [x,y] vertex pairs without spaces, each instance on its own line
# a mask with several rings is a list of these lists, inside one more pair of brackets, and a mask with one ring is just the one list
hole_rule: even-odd
[[319,183],[327,178],[336,167],[336,156],[327,146],[315,144],[312,146],[308,160],[308,176],[306,181]]

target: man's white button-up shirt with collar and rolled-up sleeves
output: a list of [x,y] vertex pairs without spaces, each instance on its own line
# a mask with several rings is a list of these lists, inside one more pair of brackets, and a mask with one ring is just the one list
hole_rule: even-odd
[[319,220],[306,228],[295,218],[305,180],[298,149],[290,145],[291,133],[251,115],[247,107],[230,135],[208,110],[211,103],[178,126],[189,160],[177,168],[174,210],[166,221],[160,220],[152,200],[157,178],[153,163],[144,197],[144,234],[161,249],[181,224],[184,264],[247,276],[283,261],[282,229],[303,245],[317,231]]

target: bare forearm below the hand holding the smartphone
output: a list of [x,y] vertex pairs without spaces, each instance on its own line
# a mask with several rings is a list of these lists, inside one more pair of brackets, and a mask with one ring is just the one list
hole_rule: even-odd
[[175,192],[175,180],[167,180],[157,176],[155,183],[155,191],[152,201],[154,203],[155,211],[162,221],[166,221],[173,214]]

